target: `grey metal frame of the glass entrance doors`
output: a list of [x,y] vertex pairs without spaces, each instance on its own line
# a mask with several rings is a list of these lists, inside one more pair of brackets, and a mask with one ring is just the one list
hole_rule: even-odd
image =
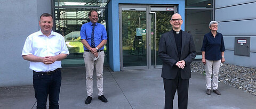
[[[147,47],[147,65],[146,66],[123,66],[123,36],[122,36],[122,7],[134,7],[134,8],[146,8],[146,47]],[[138,70],[138,69],[160,69],[162,65],[154,65],[151,63],[151,7],[174,7],[174,13],[178,12],[178,5],[151,5],[151,4],[119,4],[118,5],[118,16],[119,16],[119,51],[120,51],[120,70]],[[157,54],[156,54],[157,55]]]

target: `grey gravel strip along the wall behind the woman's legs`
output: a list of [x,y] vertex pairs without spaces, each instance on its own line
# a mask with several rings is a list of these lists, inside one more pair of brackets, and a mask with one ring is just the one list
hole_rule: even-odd
[[[205,76],[204,64],[201,61],[194,61],[191,63],[191,72]],[[255,68],[223,63],[220,66],[219,81],[256,96]]]

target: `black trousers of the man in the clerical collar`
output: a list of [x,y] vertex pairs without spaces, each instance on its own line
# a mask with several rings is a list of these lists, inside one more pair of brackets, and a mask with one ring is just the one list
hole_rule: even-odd
[[181,79],[180,72],[178,72],[175,79],[164,78],[165,91],[165,109],[173,108],[173,99],[178,90],[178,107],[179,109],[188,108],[188,85],[189,79]]

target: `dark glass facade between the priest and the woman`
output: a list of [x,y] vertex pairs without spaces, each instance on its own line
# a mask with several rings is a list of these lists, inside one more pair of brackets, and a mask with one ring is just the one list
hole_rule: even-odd
[[[201,47],[205,33],[210,31],[209,23],[213,20],[213,0],[185,1],[185,31],[194,38],[197,55],[201,54]],[[201,58],[201,57],[196,57]]]

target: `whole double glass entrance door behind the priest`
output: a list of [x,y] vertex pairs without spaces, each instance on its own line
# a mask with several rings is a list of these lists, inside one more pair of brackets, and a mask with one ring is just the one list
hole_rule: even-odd
[[175,6],[119,5],[121,70],[162,68],[161,35],[172,29]]

